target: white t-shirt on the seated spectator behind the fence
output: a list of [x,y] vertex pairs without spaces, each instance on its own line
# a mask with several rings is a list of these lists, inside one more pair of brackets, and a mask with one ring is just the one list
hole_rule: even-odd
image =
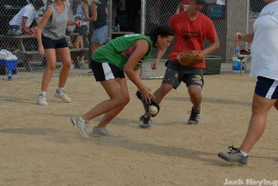
[[22,26],[22,17],[28,17],[26,20],[26,26],[30,26],[36,16],[35,8],[32,4],[28,4],[20,10],[15,17],[10,21],[10,25]]

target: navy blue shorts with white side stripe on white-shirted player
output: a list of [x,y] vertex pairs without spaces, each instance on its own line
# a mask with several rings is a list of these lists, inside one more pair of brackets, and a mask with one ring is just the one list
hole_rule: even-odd
[[262,76],[257,77],[255,93],[266,99],[278,99],[278,81]]

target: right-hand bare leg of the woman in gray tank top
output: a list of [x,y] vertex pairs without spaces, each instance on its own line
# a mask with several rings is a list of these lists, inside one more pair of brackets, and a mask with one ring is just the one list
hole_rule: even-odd
[[60,70],[59,74],[59,85],[58,87],[65,87],[65,83],[67,81],[67,77],[70,73],[70,65],[72,64],[72,60],[70,58],[70,49],[68,47],[56,49],[56,52],[60,56],[62,60],[63,67]]

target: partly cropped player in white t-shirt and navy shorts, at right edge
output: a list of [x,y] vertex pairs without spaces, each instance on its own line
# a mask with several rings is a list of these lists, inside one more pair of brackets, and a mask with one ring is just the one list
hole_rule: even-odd
[[268,3],[254,22],[254,33],[236,33],[236,41],[252,42],[250,76],[258,81],[253,96],[249,128],[240,148],[229,146],[228,153],[218,153],[227,162],[247,164],[248,153],[265,130],[266,117],[272,106],[278,110],[278,1]]

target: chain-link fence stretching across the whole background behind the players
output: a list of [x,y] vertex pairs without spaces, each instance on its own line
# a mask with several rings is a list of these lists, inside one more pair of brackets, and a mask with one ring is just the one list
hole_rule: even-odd
[[[32,0],[30,3],[35,2],[36,0]],[[79,3],[77,3],[76,0],[70,0],[69,2],[71,5],[69,18],[74,19],[74,15],[76,15],[76,6],[78,6]],[[108,8],[108,15],[114,14],[112,9],[109,9],[110,3],[112,3],[113,6],[117,6],[117,2],[118,1],[114,0],[99,0],[99,3],[104,3]],[[172,15],[188,8],[188,2],[186,0],[142,0],[142,2],[145,2],[145,14],[142,14],[142,16],[145,15],[145,33],[149,33],[149,31],[151,31],[152,28],[158,24],[167,24]],[[21,22],[17,23],[19,25],[19,31],[17,31],[17,26],[9,26],[10,21],[16,17],[15,15],[17,15],[19,11],[28,5],[28,1],[7,0],[0,1],[0,3],[0,47],[2,49],[0,55],[0,78],[6,79],[9,70],[13,73],[13,78],[42,76],[44,69],[47,67],[47,62],[45,58],[42,58],[38,55],[38,42],[35,35],[33,35],[31,32],[32,30],[30,33],[22,33],[22,28],[20,28],[22,25]],[[44,1],[44,4],[48,3],[51,3],[51,1]],[[91,11],[91,6],[95,3],[95,0],[86,0],[84,3],[88,3],[89,17],[94,17],[94,13]],[[141,3],[141,5],[142,4],[144,3]],[[210,17],[213,20],[213,24],[215,25],[216,31],[218,33],[220,48],[212,53],[212,55],[220,56],[222,60],[221,71],[231,71],[232,69],[233,62],[231,56],[234,54],[234,49],[236,47],[236,43],[234,42],[234,34],[236,32],[252,32],[254,20],[256,17],[258,17],[259,12],[263,6],[265,6],[265,2],[261,0],[208,0],[208,3],[206,3],[202,9],[204,15]],[[43,6],[40,8],[40,10],[36,10],[33,17],[36,17],[36,15],[40,17],[46,7],[47,6]],[[129,9],[129,7],[126,7],[126,9]],[[138,7],[138,10],[139,9],[142,8]],[[29,8],[28,11],[30,13],[30,11],[33,11],[33,9]],[[98,13],[97,19],[102,21],[104,19],[106,20],[107,15]],[[117,28],[117,24],[119,24],[120,27],[129,24],[126,23],[126,15],[118,17],[118,19],[115,19],[113,16],[108,16],[108,22],[111,22],[111,24],[108,24],[108,31],[110,32]],[[136,22],[136,20],[131,20],[129,22],[133,22],[133,24],[136,25],[142,24],[140,22]],[[13,24],[15,24],[15,22],[12,23],[12,25]],[[80,33],[75,30],[75,26],[68,27],[67,41],[69,43],[72,56],[72,69],[70,75],[85,75],[90,74],[91,72],[91,70],[88,68],[88,62],[91,56],[92,49],[90,46],[92,33],[95,31],[95,22],[87,22],[87,25],[88,30],[86,35],[83,37],[83,46],[77,46],[76,44],[76,38],[80,37]],[[29,28],[35,27],[35,19],[32,20],[31,24],[28,26]],[[97,28],[99,28],[99,26],[97,26]],[[206,41],[205,45],[207,46],[208,44],[209,42]],[[242,49],[248,49],[250,47],[244,42],[240,42],[239,45]],[[172,47],[170,47],[165,56],[163,56],[164,61],[167,59],[171,49]],[[6,53],[5,50],[10,51],[11,53]],[[154,54],[155,53],[156,51]],[[61,65],[62,63],[60,62],[59,58],[57,58],[57,67],[54,76],[58,76]],[[247,70],[249,69],[250,59],[247,60]],[[151,70],[149,64],[146,63],[142,66],[141,77],[161,77],[164,75],[164,72],[165,67],[163,66],[163,62],[161,62],[161,64],[158,66],[158,69],[155,71]]]

